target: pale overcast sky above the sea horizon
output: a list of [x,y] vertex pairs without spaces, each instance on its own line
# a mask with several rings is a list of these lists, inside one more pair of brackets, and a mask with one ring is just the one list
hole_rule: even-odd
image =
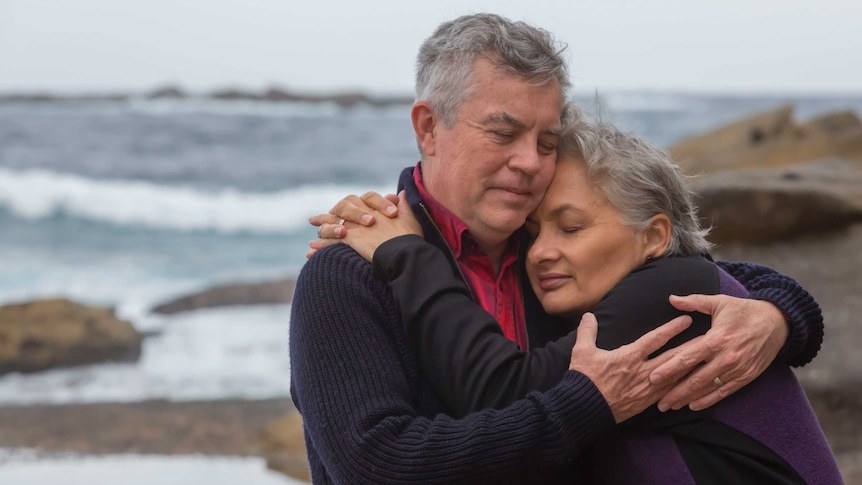
[[576,89],[862,92],[860,0],[0,0],[0,91],[410,93],[437,24],[565,41]]

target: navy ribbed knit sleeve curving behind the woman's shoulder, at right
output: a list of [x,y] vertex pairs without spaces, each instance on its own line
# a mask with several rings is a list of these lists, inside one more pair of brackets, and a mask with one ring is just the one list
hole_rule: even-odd
[[796,280],[767,266],[730,261],[717,264],[742,283],[749,298],[771,302],[787,317],[790,333],[778,358],[794,367],[811,362],[823,343],[823,314],[814,298]]

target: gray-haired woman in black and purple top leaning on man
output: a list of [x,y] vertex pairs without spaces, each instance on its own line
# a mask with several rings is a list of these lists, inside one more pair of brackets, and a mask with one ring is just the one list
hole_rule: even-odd
[[[597,344],[616,348],[677,316],[672,294],[745,296],[701,256],[706,231],[678,166],[648,143],[573,113],[554,180],[526,224],[526,273],[545,310],[572,321],[594,312]],[[416,235],[394,237],[420,232],[398,219],[351,227],[345,242],[389,281],[417,360],[453,412],[502,407],[559,382],[576,334],[520,351],[436,248]],[[383,238],[390,239],[380,244]],[[692,317],[668,347],[706,332],[709,317]],[[601,483],[841,483],[813,411],[783,365],[708,410],[645,411],[591,452]]]

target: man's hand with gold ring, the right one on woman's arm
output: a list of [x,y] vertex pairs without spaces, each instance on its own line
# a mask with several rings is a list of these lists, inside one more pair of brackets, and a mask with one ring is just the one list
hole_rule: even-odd
[[670,302],[713,318],[705,335],[665,352],[673,358],[650,375],[664,386],[688,374],[661,398],[662,411],[686,405],[699,411],[721,401],[762,374],[787,340],[787,321],[769,302],[726,295],[672,296]]

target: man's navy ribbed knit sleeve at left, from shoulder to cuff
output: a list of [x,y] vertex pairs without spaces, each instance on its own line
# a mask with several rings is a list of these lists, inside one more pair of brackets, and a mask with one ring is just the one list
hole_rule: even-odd
[[316,483],[529,483],[614,426],[576,372],[501,410],[443,414],[386,283],[344,245],[319,251],[297,280],[290,359]]

